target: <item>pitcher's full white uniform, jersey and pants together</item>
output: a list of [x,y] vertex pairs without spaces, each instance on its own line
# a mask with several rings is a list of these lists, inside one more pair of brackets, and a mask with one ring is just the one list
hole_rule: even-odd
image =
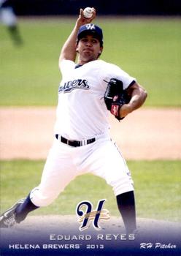
[[115,195],[134,190],[126,162],[109,136],[109,111],[104,94],[111,78],[122,80],[124,89],[135,79],[101,60],[77,68],[73,61],[64,60],[60,68],[62,81],[58,90],[55,134],[69,140],[93,138],[94,142],[74,147],[56,137],[41,183],[31,191],[31,201],[36,206],[47,206],[70,181],[83,173],[104,178]]

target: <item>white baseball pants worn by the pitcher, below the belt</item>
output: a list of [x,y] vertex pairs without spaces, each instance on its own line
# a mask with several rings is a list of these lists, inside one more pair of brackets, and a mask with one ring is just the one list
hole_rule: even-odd
[[32,203],[39,207],[49,205],[70,181],[83,173],[104,178],[115,195],[134,190],[126,162],[109,136],[96,136],[94,143],[80,147],[68,146],[55,139],[41,182],[31,191]]

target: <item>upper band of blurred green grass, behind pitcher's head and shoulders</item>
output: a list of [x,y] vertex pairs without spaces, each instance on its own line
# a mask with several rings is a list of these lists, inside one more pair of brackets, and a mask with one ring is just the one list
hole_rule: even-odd
[[[0,104],[56,105],[58,56],[76,18],[20,19],[23,45],[0,26]],[[101,59],[118,64],[148,91],[146,106],[180,107],[179,18],[97,18],[104,30]]]

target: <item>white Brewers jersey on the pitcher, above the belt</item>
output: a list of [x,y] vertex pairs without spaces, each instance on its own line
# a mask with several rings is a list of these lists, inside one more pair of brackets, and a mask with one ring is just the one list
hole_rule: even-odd
[[135,78],[114,64],[90,61],[75,68],[73,61],[60,63],[62,80],[58,90],[55,133],[70,140],[93,138],[109,130],[109,111],[104,103],[107,82],[123,81],[126,89]]

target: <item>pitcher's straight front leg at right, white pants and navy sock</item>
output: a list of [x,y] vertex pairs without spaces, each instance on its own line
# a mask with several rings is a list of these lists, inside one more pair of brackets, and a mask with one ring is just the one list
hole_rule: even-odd
[[89,161],[93,162],[93,173],[112,186],[126,232],[133,233],[136,229],[134,183],[117,146],[109,139],[100,140]]

